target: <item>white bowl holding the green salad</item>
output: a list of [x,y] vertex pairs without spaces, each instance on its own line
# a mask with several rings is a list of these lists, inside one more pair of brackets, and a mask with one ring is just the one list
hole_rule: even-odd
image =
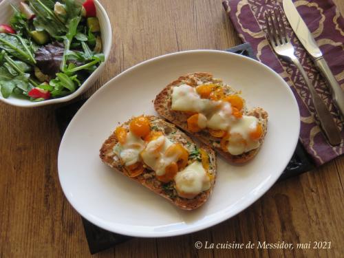
[[[19,6],[19,3],[21,1],[23,0],[3,0],[0,3],[0,24],[8,23],[10,17],[12,17],[13,12],[10,3],[12,3],[14,6]],[[81,4],[83,3],[83,0],[76,0],[76,2]],[[75,92],[62,98],[52,98],[50,100],[44,100],[41,102],[32,102],[30,100],[20,99],[14,96],[3,98],[3,96],[0,93],[1,101],[18,107],[39,107],[55,103],[63,103],[72,100],[73,98],[76,98],[76,96],[79,96],[87,89],[89,89],[89,87],[94,85],[96,79],[100,76],[101,72],[103,72],[107,58],[109,58],[112,42],[112,30],[109,17],[107,17],[105,9],[98,2],[98,0],[94,0],[94,3],[96,4],[97,17],[100,23],[100,32],[103,41],[103,53],[105,55],[105,61],[99,65],[99,67],[87,78],[87,80],[85,80],[85,82],[82,85],[80,85],[80,87]]]

